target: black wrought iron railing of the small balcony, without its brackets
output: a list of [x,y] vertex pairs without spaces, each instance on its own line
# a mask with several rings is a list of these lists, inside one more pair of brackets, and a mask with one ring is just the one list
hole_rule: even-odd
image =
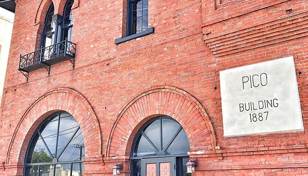
[[71,41],[64,40],[41,48],[32,53],[26,55],[20,55],[19,57],[19,70],[24,70],[24,68],[48,62],[56,57],[67,56],[67,58],[75,58],[76,44]]

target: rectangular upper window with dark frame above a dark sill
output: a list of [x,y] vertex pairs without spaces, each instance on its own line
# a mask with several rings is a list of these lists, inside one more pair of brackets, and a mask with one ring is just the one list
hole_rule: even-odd
[[148,0],[128,0],[127,36],[148,29]]

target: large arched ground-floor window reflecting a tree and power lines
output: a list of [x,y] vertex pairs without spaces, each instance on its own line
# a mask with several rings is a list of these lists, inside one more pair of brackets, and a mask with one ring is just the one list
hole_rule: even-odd
[[76,119],[67,112],[55,113],[37,127],[30,140],[24,176],[82,176],[84,155]]

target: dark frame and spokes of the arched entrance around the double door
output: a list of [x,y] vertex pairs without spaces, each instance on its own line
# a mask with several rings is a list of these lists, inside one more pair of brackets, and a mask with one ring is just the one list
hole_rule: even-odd
[[[173,119],[170,116],[160,115],[160,116],[156,116],[156,117],[148,120],[146,123],[144,123],[144,125],[142,125],[140,127],[140,129],[138,130],[138,132],[136,133],[136,135],[135,135],[135,137],[133,139],[132,148],[131,148],[131,151],[130,151],[131,153],[130,153],[130,158],[129,159],[130,159],[130,171],[131,171],[130,175],[131,176],[134,176],[133,173],[134,173],[134,171],[136,169],[136,168],[133,167],[133,162],[140,161],[140,163],[141,163],[142,159],[146,159],[146,158],[163,158],[163,157],[173,157],[175,159],[175,161],[176,161],[176,164],[175,164],[175,166],[176,166],[176,175],[177,176],[183,176],[182,172],[181,172],[181,170],[182,170],[182,161],[181,160],[183,158],[189,158],[189,155],[187,153],[185,153],[185,154],[184,153],[183,154],[156,154],[156,155],[150,155],[150,156],[134,156],[135,150],[137,148],[136,145],[139,142],[140,135],[145,135],[144,134],[144,129],[146,129],[149,125],[151,125],[154,121],[156,121],[158,119],[160,119],[160,145],[161,145],[161,150],[163,150],[163,147],[162,147],[162,119],[171,119],[171,120],[175,121],[176,123],[178,123],[175,119]],[[178,123],[178,124],[180,125],[180,123]],[[171,145],[171,143],[176,138],[176,136],[180,133],[181,129],[183,129],[183,127],[180,125],[180,129],[177,131],[176,135],[172,138],[172,141],[164,149],[165,151]],[[189,151],[190,151],[190,148],[189,148]]]

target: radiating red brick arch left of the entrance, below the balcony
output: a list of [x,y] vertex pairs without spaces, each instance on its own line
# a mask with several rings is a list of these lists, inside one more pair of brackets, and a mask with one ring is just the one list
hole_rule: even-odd
[[99,121],[91,105],[79,92],[70,88],[56,88],[41,96],[26,110],[7,151],[6,163],[23,162],[26,148],[36,127],[48,115],[67,111],[75,117],[83,133],[86,158],[102,157]]

